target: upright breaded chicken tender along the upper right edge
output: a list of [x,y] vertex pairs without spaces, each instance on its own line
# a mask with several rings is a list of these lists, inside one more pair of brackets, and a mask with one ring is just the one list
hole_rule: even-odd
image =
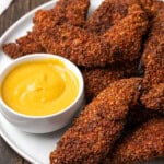
[[164,82],[164,10],[153,20],[142,56],[144,66],[144,87]]

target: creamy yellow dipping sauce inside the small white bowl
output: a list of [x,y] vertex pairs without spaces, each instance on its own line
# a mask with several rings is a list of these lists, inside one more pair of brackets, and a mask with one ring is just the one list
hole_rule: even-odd
[[71,105],[78,93],[78,78],[58,59],[22,63],[2,83],[7,105],[30,116],[58,113]]

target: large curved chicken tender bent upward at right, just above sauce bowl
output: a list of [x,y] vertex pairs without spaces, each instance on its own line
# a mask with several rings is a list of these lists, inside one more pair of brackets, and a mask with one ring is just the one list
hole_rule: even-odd
[[[133,10],[132,10],[133,9]],[[145,13],[139,5],[103,37],[77,26],[62,24],[42,33],[39,40],[47,52],[58,54],[84,67],[133,61],[140,57],[142,36],[148,27]]]

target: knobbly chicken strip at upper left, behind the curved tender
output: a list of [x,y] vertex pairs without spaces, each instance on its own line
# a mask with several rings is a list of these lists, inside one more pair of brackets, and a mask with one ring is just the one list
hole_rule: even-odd
[[33,20],[34,26],[32,32],[19,38],[16,43],[4,45],[4,52],[11,58],[17,58],[33,52],[45,52],[45,49],[38,40],[42,32],[63,22],[82,26],[86,19],[89,5],[89,0],[59,0],[54,9],[37,11]]

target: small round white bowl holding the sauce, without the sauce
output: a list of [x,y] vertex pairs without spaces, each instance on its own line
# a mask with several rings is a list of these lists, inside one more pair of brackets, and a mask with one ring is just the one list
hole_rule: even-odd
[[77,98],[74,99],[74,102],[72,102],[70,106],[68,106],[59,113],[48,116],[27,116],[24,114],[20,114],[5,104],[0,93],[1,114],[8,119],[9,122],[14,125],[19,129],[32,133],[47,133],[63,128],[70,122],[72,117],[79,112],[79,109],[84,104],[84,82],[80,70],[71,61],[56,55],[35,54],[27,55],[16,60],[13,60],[13,62],[11,62],[0,74],[0,87],[2,86],[3,80],[7,77],[7,74],[14,67],[26,61],[36,61],[42,59],[58,59],[62,61],[66,65],[66,67],[77,75],[80,87]]

